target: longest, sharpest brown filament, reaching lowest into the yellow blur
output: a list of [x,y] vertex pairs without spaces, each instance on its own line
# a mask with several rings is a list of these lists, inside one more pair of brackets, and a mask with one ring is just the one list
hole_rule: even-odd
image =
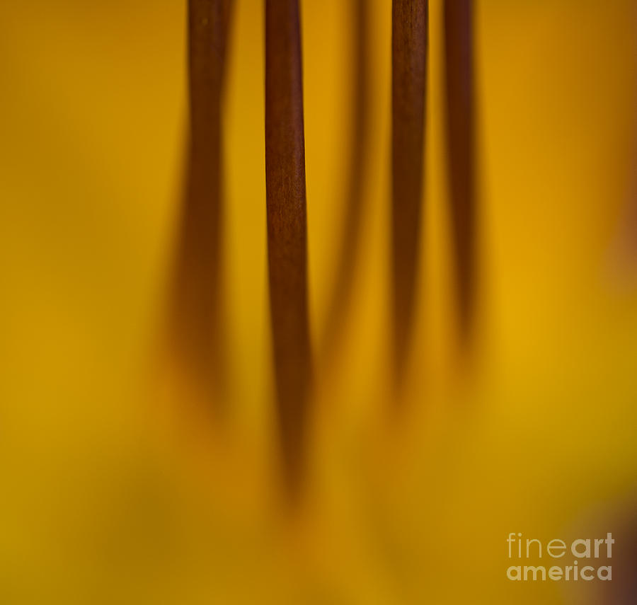
[[265,187],[277,405],[294,486],[302,473],[311,365],[298,0],[265,0]]

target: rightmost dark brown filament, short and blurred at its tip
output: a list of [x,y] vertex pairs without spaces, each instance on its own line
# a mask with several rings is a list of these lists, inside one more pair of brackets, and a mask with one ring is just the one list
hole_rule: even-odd
[[476,192],[474,159],[473,1],[444,3],[449,191],[461,334],[471,328],[475,298]]

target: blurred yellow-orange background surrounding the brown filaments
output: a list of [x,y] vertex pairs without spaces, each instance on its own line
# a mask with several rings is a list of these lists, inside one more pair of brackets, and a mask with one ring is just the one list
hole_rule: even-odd
[[[624,245],[637,6],[475,4],[475,342],[457,342],[432,0],[418,317],[394,401],[391,3],[370,0],[363,260],[290,509],[268,324],[261,3],[236,0],[229,47],[231,405],[215,420],[160,346],[185,161],[185,3],[2,2],[2,603],[561,604],[575,602],[568,584],[507,580],[509,532],[572,540],[599,526],[621,545],[637,488],[637,254]],[[349,1],[302,1],[317,349],[347,190],[352,14]],[[580,590],[578,604],[598,602]]]

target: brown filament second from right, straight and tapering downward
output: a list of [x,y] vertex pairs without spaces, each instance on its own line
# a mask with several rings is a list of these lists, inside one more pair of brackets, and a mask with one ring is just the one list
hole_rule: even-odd
[[392,10],[392,235],[394,355],[403,371],[413,323],[425,153],[429,6],[394,0]]

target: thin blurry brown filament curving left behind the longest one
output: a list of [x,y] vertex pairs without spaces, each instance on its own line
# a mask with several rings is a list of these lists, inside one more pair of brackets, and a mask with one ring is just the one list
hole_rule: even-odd
[[365,165],[369,134],[369,81],[371,60],[369,57],[369,0],[352,0],[354,35],[350,81],[352,104],[350,107],[350,159],[348,185],[345,197],[345,229],[340,241],[338,269],[333,296],[328,307],[323,359],[332,357],[338,337],[343,333],[360,251],[360,236],[365,208]]

